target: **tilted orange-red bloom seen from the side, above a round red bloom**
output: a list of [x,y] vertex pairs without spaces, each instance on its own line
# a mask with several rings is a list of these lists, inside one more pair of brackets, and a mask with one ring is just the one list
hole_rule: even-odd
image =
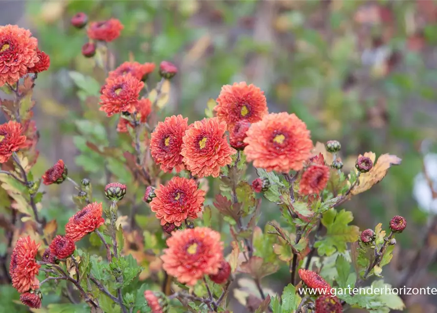
[[105,219],[102,218],[102,203],[93,202],[70,217],[65,225],[65,236],[76,242],[88,233],[99,228]]

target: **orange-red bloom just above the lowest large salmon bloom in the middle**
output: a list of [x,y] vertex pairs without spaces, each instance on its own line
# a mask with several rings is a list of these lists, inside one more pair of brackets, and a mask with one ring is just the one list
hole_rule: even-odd
[[202,211],[205,191],[197,189],[194,179],[173,177],[166,186],[155,190],[156,197],[150,202],[150,209],[161,220],[161,225],[174,223],[180,226],[187,218],[196,219]]

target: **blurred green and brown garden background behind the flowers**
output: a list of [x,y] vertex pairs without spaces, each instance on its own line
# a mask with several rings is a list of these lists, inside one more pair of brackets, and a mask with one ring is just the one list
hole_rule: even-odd
[[[418,207],[412,191],[414,177],[423,168],[421,142],[437,134],[436,1],[5,2],[1,24],[30,28],[51,59],[35,89],[41,133],[35,172],[42,174],[62,158],[78,178],[88,175],[78,172],[83,164],[75,158],[74,119],[84,107],[69,71],[92,75],[93,70],[80,54],[86,34],[71,27],[69,19],[77,12],[85,12],[92,21],[115,17],[125,26],[110,44],[115,66],[131,57],[178,66],[165,115],[180,113],[190,122],[200,119],[207,99],[215,99],[222,85],[247,81],[265,91],[270,112],[294,112],[304,120],[314,142],[341,141],[345,172],[366,151],[401,157],[401,166],[391,168],[379,185],[344,207],[362,229],[387,225],[393,215],[407,218],[407,231],[397,237],[402,251],[398,247],[391,268],[385,270],[393,285],[410,253],[422,245],[422,230],[430,217]],[[153,86],[159,78],[151,79]],[[47,192],[56,205],[70,201],[68,187]],[[269,210],[263,219],[278,215]],[[435,273],[430,273],[417,284],[436,287]],[[429,298],[409,301],[411,312],[436,312]]]

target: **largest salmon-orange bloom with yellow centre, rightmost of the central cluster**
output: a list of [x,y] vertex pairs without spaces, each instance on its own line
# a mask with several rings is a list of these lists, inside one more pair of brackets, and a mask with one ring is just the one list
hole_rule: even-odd
[[306,125],[295,114],[271,113],[251,125],[244,153],[254,167],[268,172],[299,171],[311,156],[313,142]]

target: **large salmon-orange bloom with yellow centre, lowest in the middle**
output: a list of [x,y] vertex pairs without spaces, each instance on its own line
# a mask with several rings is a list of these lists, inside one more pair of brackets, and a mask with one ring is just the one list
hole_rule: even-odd
[[217,274],[223,260],[220,233],[208,227],[173,232],[167,246],[162,268],[182,284],[193,286],[204,275]]

